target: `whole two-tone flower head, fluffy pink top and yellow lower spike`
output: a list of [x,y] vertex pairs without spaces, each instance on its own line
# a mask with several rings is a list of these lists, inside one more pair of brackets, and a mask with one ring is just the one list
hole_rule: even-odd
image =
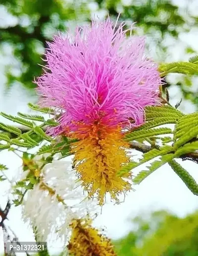
[[142,37],[126,37],[108,18],[56,36],[46,54],[47,71],[36,81],[40,105],[61,111],[53,135],[78,139],[72,146],[76,170],[90,196],[102,204],[106,192],[118,201],[131,186],[117,177],[126,165],[123,128],[144,123],[144,108],[159,104],[157,65],[144,56]]

